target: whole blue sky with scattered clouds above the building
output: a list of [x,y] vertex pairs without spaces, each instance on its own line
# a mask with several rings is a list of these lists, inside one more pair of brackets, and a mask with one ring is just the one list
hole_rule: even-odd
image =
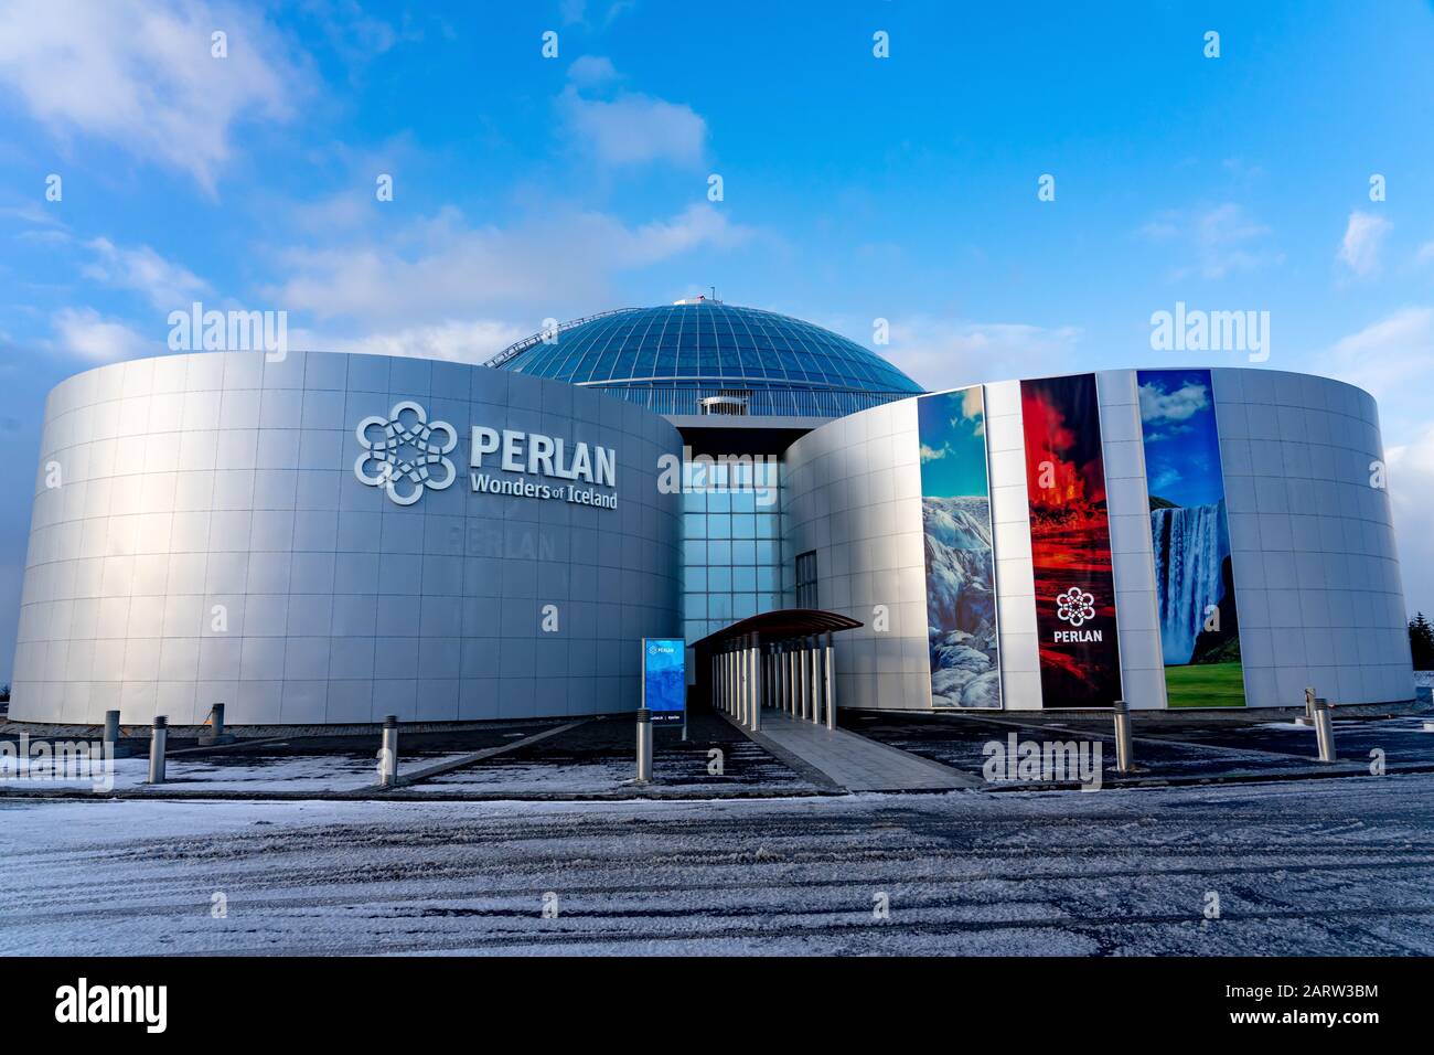
[[0,0],[0,680],[44,393],[195,299],[480,359],[716,286],[885,319],[934,389],[1154,365],[1176,301],[1269,311],[1265,366],[1380,398],[1434,609],[1431,55],[1414,0]]

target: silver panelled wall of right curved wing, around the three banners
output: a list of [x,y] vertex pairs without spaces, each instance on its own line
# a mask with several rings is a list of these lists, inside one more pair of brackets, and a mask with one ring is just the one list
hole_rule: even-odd
[[[1167,705],[1136,370],[1096,375],[1120,682]],[[1210,372],[1248,706],[1414,698],[1374,399],[1324,378]],[[984,386],[991,543],[1007,709],[1044,700],[1021,382]],[[837,699],[932,705],[918,400],[825,425],[787,451],[793,553],[815,551],[819,604],[865,626],[836,643]],[[878,629],[885,624],[888,629]]]

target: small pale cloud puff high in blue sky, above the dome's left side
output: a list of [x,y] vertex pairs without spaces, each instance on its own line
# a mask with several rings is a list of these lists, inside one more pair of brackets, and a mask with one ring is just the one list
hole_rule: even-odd
[[568,135],[605,165],[698,165],[706,152],[707,122],[685,103],[635,92],[587,99],[569,85],[558,111]]

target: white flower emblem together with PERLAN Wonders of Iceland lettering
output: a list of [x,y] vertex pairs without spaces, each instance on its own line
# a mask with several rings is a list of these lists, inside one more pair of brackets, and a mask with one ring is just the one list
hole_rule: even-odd
[[[424,491],[445,491],[457,478],[447,455],[457,446],[457,429],[427,419],[413,400],[394,403],[389,416],[374,415],[354,431],[364,448],[354,462],[354,477],[383,488],[396,505],[413,505]],[[496,466],[486,466],[495,455]],[[513,495],[615,510],[617,451],[609,446],[569,445],[539,432],[472,428],[469,487],[478,494]],[[518,478],[493,475],[488,468]],[[529,479],[538,477],[539,479]],[[546,479],[561,482],[551,484]]]

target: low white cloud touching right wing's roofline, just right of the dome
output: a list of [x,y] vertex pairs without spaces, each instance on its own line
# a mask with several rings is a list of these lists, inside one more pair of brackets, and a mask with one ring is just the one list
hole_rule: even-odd
[[891,344],[876,352],[931,392],[984,380],[1040,378],[1073,363],[1080,329],[1022,323],[891,320]]

